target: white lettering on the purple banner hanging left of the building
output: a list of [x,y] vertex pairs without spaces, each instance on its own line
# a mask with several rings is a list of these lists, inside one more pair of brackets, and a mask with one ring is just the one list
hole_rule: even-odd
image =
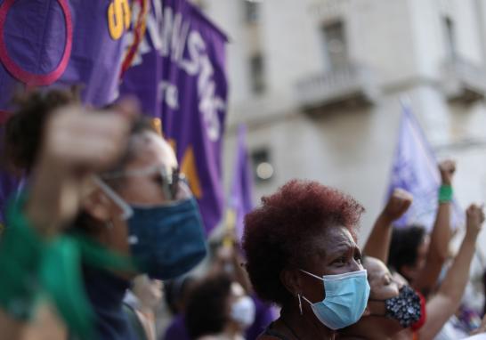
[[[217,142],[221,138],[222,126],[218,112],[226,108],[225,101],[216,96],[215,68],[207,55],[207,46],[197,30],[190,30],[190,21],[182,20],[182,13],[166,7],[162,14],[159,1],[154,2],[153,11],[147,17],[147,33],[154,48],[162,57],[168,57],[177,63],[178,67],[190,76],[198,77],[198,109],[207,128],[210,141]],[[134,14],[140,10],[134,10]],[[134,65],[142,62],[141,56],[150,52],[146,41],[142,40],[139,54],[134,59]],[[184,52],[187,50],[186,58]],[[161,81],[158,85],[158,98],[165,101],[171,109],[179,109],[179,91],[177,85]]]

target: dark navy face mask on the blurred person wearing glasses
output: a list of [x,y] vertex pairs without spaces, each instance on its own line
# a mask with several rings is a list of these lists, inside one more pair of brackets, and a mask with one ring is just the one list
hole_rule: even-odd
[[206,242],[194,198],[154,206],[128,205],[107,184],[96,182],[123,210],[135,263],[151,279],[181,276],[204,259]]

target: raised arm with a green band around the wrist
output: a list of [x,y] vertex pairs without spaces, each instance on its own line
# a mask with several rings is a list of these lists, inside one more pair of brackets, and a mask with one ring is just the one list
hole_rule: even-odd
[[425,266],[417,275],[412,286],[425,296],[436,285],[441,274],[442,265],[449,255],[450,231],[450,206],[452,202],[452,178],[456,172],[456,163],[450,160],[441,162],[441,190],[439,195],[439,207],[433,224],[430,238],[430,246],[425,260]]

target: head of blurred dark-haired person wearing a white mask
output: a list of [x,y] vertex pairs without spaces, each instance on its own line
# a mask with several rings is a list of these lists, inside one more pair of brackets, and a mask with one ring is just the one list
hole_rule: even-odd
[[255,304],[227,275],[209,276],[190,294],[186,324],[194,340],[241,340],[255,319]]

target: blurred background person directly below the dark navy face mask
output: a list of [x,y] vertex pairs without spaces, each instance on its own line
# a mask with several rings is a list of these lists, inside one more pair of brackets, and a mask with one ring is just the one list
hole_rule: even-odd
[[155,309],[162,301],[162,281],[137,276],[126,292],[124,304],[132,327],[141,339],[156,340]]

